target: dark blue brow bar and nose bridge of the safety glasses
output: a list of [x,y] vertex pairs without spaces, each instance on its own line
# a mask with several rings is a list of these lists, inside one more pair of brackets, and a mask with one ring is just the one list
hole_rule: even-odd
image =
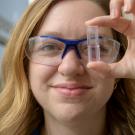
[[56,37],[56,36],[52,36],[52,35],[48,35],[48,36],[39,36],[41,38],[51,38],[51,39],[56,39],[62,43],[64,43],[65,47],[64,47],[64,51],[62,53],[61,58],[63,59],[64,56],[71,50],[74,49],[76,52],[76,55],[79,59],[81,59],[81,53],[77,47],[78,44],[80,44],[81,42],[87,41],[87,38],[84,39],[79,39],[79,40],[69,40],[69,39],[63,39],[60,37]]

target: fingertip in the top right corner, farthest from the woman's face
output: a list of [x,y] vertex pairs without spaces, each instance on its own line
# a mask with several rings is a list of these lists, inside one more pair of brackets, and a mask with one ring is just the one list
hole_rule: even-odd
[[135,14],[135,0],[124,0],[124,12]]

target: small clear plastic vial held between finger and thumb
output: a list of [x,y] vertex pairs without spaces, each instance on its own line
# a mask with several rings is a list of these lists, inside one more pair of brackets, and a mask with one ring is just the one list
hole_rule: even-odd
[[100,60],[99,28],[87,27],[88,62]]

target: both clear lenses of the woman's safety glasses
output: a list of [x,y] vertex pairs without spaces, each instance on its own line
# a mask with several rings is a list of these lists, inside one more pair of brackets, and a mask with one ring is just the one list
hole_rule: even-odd
[[[93,41],[92,41],[93,40]],[[94,43],[94,39],[91,39],[91,43]],[[99,42],[100,60],[111,63],[116,60],[118,54],[118,45],[114,40],[103,38]],[[92,45],[93,46],[93,45]],[[81,54],[81,59],[85,63],[88,62],[88,49],[87,41],[83,41],[77,45]],[[59,65],[62,61],[61,55],[65,48],[65,44],[61,41],[52,38],[35,37],[29,41],[29,46],[26,49],[27,56],[35,63],[43,65]],[[91,49],[91,55],[93,59],[96,59],[96,50]]]

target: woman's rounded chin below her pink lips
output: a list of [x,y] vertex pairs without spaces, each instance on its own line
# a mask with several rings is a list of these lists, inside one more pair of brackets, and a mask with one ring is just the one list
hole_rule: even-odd
[[90,115],[88,108],[80,104],[59,105],[50,111],[55,119],[66,124],[75,123],[83,119],[86,115]]

